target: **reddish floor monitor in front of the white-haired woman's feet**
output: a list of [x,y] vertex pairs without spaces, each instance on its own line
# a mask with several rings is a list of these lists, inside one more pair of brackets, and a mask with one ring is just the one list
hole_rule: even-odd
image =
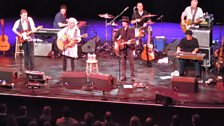
[[72,87],[82,87],[87,83],[86,72],[62,72],[61,79],[64,84]]

